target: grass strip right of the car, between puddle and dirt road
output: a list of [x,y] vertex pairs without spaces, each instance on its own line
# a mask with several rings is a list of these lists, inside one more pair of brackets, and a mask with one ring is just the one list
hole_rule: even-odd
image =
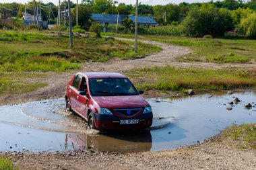
[[217,91],[256,86],[256,71],[153,67],[126,71],[138,89]]

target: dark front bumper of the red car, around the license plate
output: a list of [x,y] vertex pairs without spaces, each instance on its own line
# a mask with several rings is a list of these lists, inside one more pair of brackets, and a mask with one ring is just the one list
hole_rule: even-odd
[[[118,129],[118,128],[148,128],[152,125],[153,114],[141,114],[134,118],[121,118],[115,115],[102,115],[94,113],[95,128]],[[120,124],[120,120],[139,120],[138,124]]]

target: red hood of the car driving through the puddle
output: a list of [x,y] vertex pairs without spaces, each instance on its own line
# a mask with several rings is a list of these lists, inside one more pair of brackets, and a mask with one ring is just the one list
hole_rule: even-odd
[[150,105],[141,95],[94,96],[93,99],[100,108],[108,109],[145,108]]

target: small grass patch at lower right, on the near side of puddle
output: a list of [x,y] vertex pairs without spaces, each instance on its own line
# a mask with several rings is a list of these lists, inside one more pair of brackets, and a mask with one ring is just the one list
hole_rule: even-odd
[[256,124],[242,124],[236,126],[233,124],[230,128],[224,130],[225,137],[232,140],[242,140],[245,144],[239,144],[237,147],[241,149],[253,148],[256,149]]

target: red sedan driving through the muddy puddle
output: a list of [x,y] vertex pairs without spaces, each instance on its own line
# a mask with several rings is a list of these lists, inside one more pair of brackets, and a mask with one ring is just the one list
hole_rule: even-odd
[[76,73],[67,83],[66,107],[95,129],[148,128],[152,109],[119,73]]

